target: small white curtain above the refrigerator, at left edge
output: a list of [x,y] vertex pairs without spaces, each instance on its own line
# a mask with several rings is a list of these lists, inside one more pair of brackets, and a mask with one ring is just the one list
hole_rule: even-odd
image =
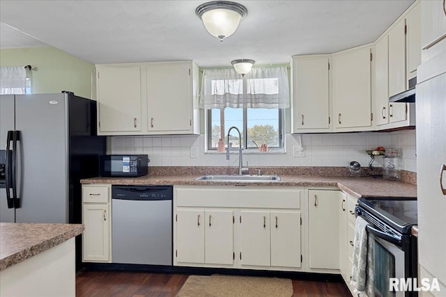
[[26,69],[22,67],[0,67],[0,94],[25,94]]

